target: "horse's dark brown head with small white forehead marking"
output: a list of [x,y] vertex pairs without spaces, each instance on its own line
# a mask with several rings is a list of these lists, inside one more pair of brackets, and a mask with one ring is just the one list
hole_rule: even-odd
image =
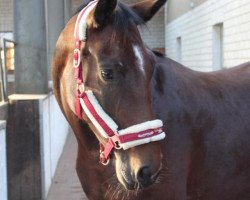
[[[136,137],[141,137],[136,141],[123,138],[126,142],[118,145],[123,149],[115,149],[111,155],[117,178],[127,189],[153,184],[162,166],[158,140],[165,134],[161,131],[156,134],[162,122],[155,120],[151,107],[150,81],[154,56],[143,43],[138,26],[151,19],[164,3],[146,0],[127,6],[116,0],[99,0],[93,5],[88,4],[90,9],[86,11],[88,14],[83,22],[86,30],[79,27],[81,40],[85,42],[77,43],[76,53],[80,55],[76,55],[75,62],[77,66],[80,62],[82,65],[78,77],[84,80],[83,90],[91,91],[89,98],[94,98],[92,102],[81,99],[81,104],[86,106],[85,103],[98,102],[97,110],[101,111],[94,111],[97,112],[95,114],[107,113],[111,118],[108,117],[107,121],[112,121],[111,126],[117,126],[115,132],[127,138],[133,138],[128,133],[137,132]],[[79,26],[80,20],[76,20]],[[91,120],[93,116],[86,112],[82,112],[80,117],[105,146],[110,138],[100,134],[99,125],[96,126]],[[156,136],[149,137],[151,134]]]

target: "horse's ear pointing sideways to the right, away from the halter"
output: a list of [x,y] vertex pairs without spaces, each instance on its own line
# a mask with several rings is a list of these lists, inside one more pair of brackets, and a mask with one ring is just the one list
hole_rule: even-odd
[[149,21],[167,0],[144,0],[132,4],[134,11],[145,21]]

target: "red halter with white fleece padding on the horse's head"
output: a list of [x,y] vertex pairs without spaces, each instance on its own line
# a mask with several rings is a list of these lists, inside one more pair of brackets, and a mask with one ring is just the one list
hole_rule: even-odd
[[162,130],[163,123],[156,119],[130,126],[126,129],[118,130],[118,125],[103,110],[91,90],[85,90],[82,76],[81,43],[86,42],[87,18],[91,10],[96,6],[98,0],[91,1],[78,14],[74,37],[74,68],[75,79],[77,80],[77,94],[75,100],[75,110],[79,119],[83,120],[84,112],[93,123],[98,133],[107,139],[105,145],[100,144],[100,162],[104,165],[109,163],[112,150],[127,150],[131,147],[146,144],[149,142],[163,140],[165,133]]

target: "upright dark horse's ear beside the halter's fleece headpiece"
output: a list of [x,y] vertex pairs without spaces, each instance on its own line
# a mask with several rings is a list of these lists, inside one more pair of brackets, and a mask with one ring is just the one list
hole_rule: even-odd
[[92,25],[94,27],[100,27],[104,25],[114,12],[116,4],[117,0],[99,0],[95,10],[92,13]]

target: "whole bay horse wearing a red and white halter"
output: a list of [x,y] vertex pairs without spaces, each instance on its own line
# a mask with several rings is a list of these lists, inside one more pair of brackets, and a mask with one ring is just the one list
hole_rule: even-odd
[[54,94],[82,188],[90,200],[250,199],[250,63],[203,73],[151,51],[138,26],[165,2],[89,1],[59,36]]

